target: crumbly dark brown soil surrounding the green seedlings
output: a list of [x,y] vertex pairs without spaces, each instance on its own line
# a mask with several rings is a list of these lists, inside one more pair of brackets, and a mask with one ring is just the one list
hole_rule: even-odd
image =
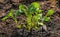
[[[6,21],[1,20],[10,9],[17,10],[20,3],[28,5],[31,2],[40,2],[41,9],[44,10],[43,15],[48,9],[55,11],[51,16],[51,20],[45,22],[45,27],[28,31],[24,28],[15,28],[16,23],[12,18],[8,18]],[[53,0],[53,2],[54,4],[49,0],[0,0],[0,37],[60,37],[60,0]],[[19,24],[26,23],[25,15],[17,16],[16,18]]]

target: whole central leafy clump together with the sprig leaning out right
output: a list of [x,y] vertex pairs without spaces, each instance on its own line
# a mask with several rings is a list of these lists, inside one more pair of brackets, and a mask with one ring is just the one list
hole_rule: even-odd
[[54,11],[52,9],[48,10],[47,14],[42,17],[42,11],[40,8],[40,4],[38,2],[33,2],[29,6],[24,4],[20,4],[19,10],[16,12],[17,15],[24,13],[26,16],[27,25],[23,27],[31,30],[31,28],[38,29],[38,26],[44,25],[45,21],[49,21],[51,15],[53,15]]

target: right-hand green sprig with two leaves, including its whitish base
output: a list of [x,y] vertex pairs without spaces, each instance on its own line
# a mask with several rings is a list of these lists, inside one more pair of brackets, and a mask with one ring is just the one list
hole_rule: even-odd
[[38,24],[39,25],[44,25],[44,22],[48,22],[50,20],[50,16],[54,14],[54,10],[49,9],[46,13],[46,15],[41,19],[41,22]]

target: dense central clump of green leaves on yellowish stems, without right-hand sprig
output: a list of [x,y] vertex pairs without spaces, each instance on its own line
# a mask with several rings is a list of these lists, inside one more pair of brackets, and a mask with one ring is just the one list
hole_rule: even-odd
[[[43,11],[43,10],[40,10],[39,7],[40,5],[38,2],[33,2],[29,6],[26,6],[24,4],[20,4],[19,6],[20,14],[24,13],[26,15],[26,22],[27,22],[28,30],[30,30],[31,28],[37,28],[37,25],[35,25],[35,23],[36,24],[38,23],[38,20],[41,16],[40,13]],[[17,15],[19,15],[19,12],[16,12],[18,13]]]

